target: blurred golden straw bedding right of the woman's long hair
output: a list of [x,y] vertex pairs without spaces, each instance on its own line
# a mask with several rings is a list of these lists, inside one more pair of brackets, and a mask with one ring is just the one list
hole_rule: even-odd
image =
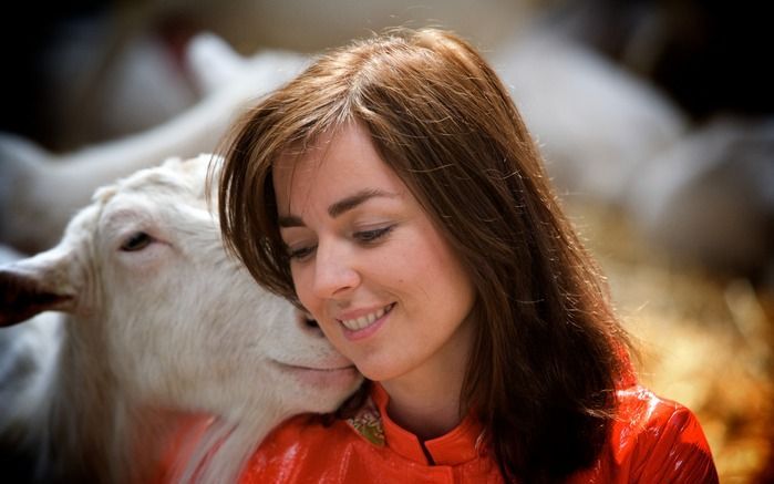
[[610,208],[568,208],[640,350],[640,380],[696,413],[721,482],[774,482],[774,290],[670,260]]

